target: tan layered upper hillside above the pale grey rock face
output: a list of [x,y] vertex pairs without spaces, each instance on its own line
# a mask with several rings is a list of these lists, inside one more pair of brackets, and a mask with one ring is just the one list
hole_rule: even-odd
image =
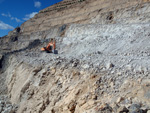
[[[23,34],[64,24],[140,23],[148,15],[150,0],[65,0],[45,8],[21,25]],[[140,10],[143,7],[143,10]],[[140,20],[140,18],[143,18]]]

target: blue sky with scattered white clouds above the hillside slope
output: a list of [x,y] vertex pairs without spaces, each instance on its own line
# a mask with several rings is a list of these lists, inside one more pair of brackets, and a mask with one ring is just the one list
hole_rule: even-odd
[[0,0],[0,37],[62,0]]

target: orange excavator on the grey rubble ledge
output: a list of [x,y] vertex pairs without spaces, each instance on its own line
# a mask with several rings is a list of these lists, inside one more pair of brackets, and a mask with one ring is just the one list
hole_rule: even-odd
[[48,53],[52,53],[52,52],[54,52],[55,49],[56,49],[56,42],[52,38],[46,47],[41,48],[41,51],[46,51]]

